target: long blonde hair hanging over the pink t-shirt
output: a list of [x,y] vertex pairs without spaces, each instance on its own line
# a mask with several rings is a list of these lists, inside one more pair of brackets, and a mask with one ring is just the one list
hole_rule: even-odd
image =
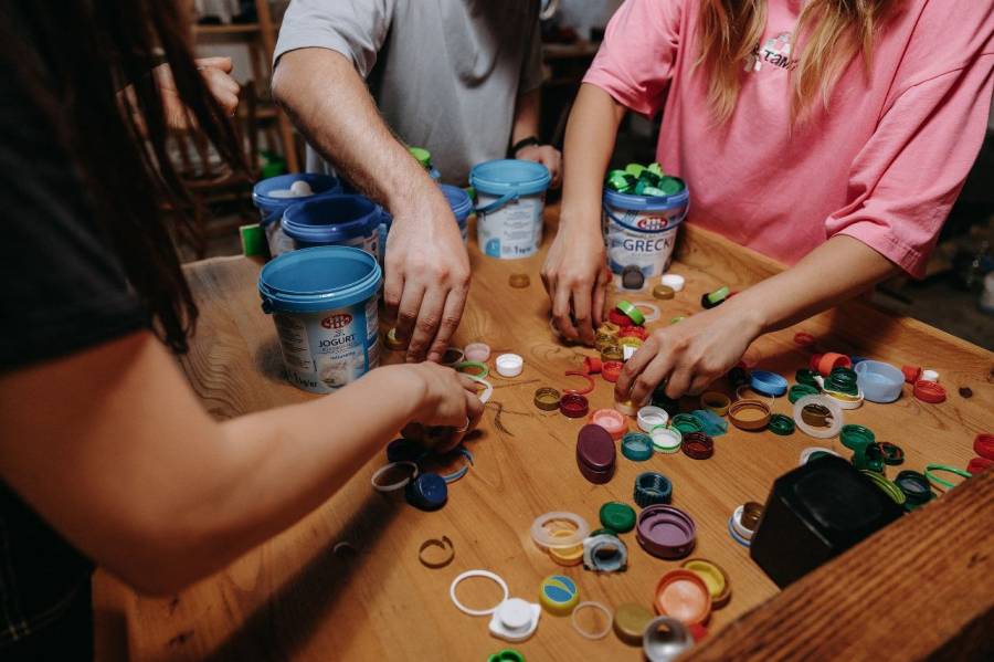
[[[808,0],[792,43],[796,67],[791,116],[803,116],[821,96],[823,106],[857,54],[869,71],[874,33],[899,0]],[[719,123],[731,117],[749,57],[766,28],[766,0],[700,0],[697,65],[708,74],[708,103]]]

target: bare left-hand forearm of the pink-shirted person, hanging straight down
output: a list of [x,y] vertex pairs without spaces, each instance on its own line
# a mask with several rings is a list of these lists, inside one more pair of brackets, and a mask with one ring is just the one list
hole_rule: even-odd
[[563,145],[560,227],[577,225],[600,232],[604,174],[624,114],[624,107],[600,87],[580,87]]

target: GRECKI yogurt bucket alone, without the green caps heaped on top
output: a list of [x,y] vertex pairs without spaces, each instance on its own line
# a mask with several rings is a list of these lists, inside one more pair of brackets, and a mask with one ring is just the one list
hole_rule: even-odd
[[611,271],[620,274],[626,266],[637,266],[646,279],[663,275],[690,207],[687,185],[673,196],[634,196],[604,189],[603,202],[601,225]]

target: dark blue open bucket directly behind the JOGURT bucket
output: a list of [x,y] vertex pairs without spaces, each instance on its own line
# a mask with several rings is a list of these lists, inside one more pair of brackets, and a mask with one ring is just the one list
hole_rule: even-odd
[[364,196],[328,196],[292,206],[283,214],[293,249],[353,246],[380,255],[382,210]]

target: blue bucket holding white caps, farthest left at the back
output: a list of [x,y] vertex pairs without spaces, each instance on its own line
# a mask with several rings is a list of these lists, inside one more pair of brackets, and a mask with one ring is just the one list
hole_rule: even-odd
[[258,224],[266,234],[269,253],[279,255],[293,250],[293,243],[279,225],[283,213],[304,200],[341,193],[341,182],[330,175],[295,172],[263,179],[252,187],[252,203],[258,209]]

